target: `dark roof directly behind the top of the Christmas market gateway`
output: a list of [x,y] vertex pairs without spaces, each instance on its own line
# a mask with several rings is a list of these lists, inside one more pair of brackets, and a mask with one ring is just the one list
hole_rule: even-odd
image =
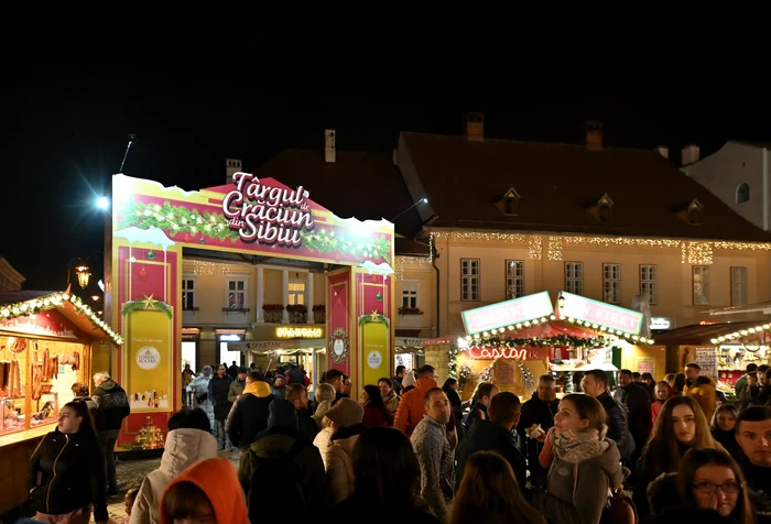
[[[256,175],[290,187],[304,186],[313,201],[340,218],[391,220],[414,204],[401,172],[384,153],[337,151],[336,162],[327,163],[324,151],[285,150],[262,164]],[[394,228],[412,239],[422,225],[413,208],[397,218]]]

